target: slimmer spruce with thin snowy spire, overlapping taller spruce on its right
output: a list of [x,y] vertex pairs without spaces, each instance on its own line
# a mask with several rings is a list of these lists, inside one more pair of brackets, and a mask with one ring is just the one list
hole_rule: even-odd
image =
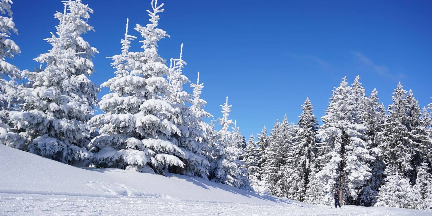
[[[126,22],[124,39],[121,39],[121,54],[111,57],[111,66],[116,76],[102,83],[111,93],[102,97],[99,108],[105,112],[93,117],[89,123],[103,133],[89,144],[94,157],[87,163],[99,168],[126,168],[134,171],[150,170],[146,164],[157,162],[141,141],[140,132],[135,128],[134,114],[140,111],[146,89],[141,77],[130,75],[133,60],[130,57],[130,43],[135,36],[128,35],[129,19]],[[135,78],[136,77],[136,78]]]

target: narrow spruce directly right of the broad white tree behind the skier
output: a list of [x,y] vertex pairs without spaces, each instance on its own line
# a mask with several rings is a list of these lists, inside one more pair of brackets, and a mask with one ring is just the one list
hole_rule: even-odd
[[372,176],[365,187],[362,188],[361,200],[365,206],[373,206],[376,203],[378,188],[384,184],[385,163],[381,158],[382,150],[378,147],[385,141],[385,108],[378,102],[378,92],[374,89],[365,101],[364,121],[368,132],[365,139],[368,142],[369,153],[375,160],[369,162]]

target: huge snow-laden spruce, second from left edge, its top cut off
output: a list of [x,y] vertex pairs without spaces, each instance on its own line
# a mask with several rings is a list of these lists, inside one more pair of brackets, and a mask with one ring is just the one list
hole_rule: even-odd
[[[11,111],[15,130],[25,142],[17,144],[40,156],[64,163],[88,159],[85,148],[91,139],[86,122],[92,117],[99,88],[87,76],[94,72],[92,57],[97,53],[82,34],[93,31],[87,23],[93,10],[81,0],[62,1],[64,13],[56,34],[47,38],[52,48],[35,58],[44,68],[26,72],[26,87],[16,93],[22,111]],[[27,87],[28,86],[28,87]]]

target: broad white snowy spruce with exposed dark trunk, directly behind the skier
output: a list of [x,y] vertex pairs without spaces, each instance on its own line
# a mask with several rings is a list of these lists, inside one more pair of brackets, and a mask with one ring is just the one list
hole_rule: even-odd
[[346,77],[343,78],[333,91],[326,115],[321,118],[324,124],[318,130],[318,137],[326,152],[320,159],[324,167],[311,184],[324,182],[324,187],[309,194],[319,196],[314,199],[318,201],[315,204],[333,202],[335,189],[339,190],[339,200],[343,203],[358,204],[358,191],[372,175],[368,161],[374,158],[368,152],[368,144],[361,139],[367,128],[361,124],[359,105],[351,89]]

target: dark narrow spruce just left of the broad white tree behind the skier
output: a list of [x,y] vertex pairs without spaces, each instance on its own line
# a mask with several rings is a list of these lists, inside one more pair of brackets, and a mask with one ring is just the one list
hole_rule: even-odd
[[312,172],[318,172],[315,164],[317,158],[317,147],[319,140],[316,137],[318,121],[312,113],[313,107],[309,98],[302,105],[303,112],[300,115],[296,130],[295,142],[292,143],[292,182],[289,196],[292,199],[303,201],[305,199],[306,187]]

